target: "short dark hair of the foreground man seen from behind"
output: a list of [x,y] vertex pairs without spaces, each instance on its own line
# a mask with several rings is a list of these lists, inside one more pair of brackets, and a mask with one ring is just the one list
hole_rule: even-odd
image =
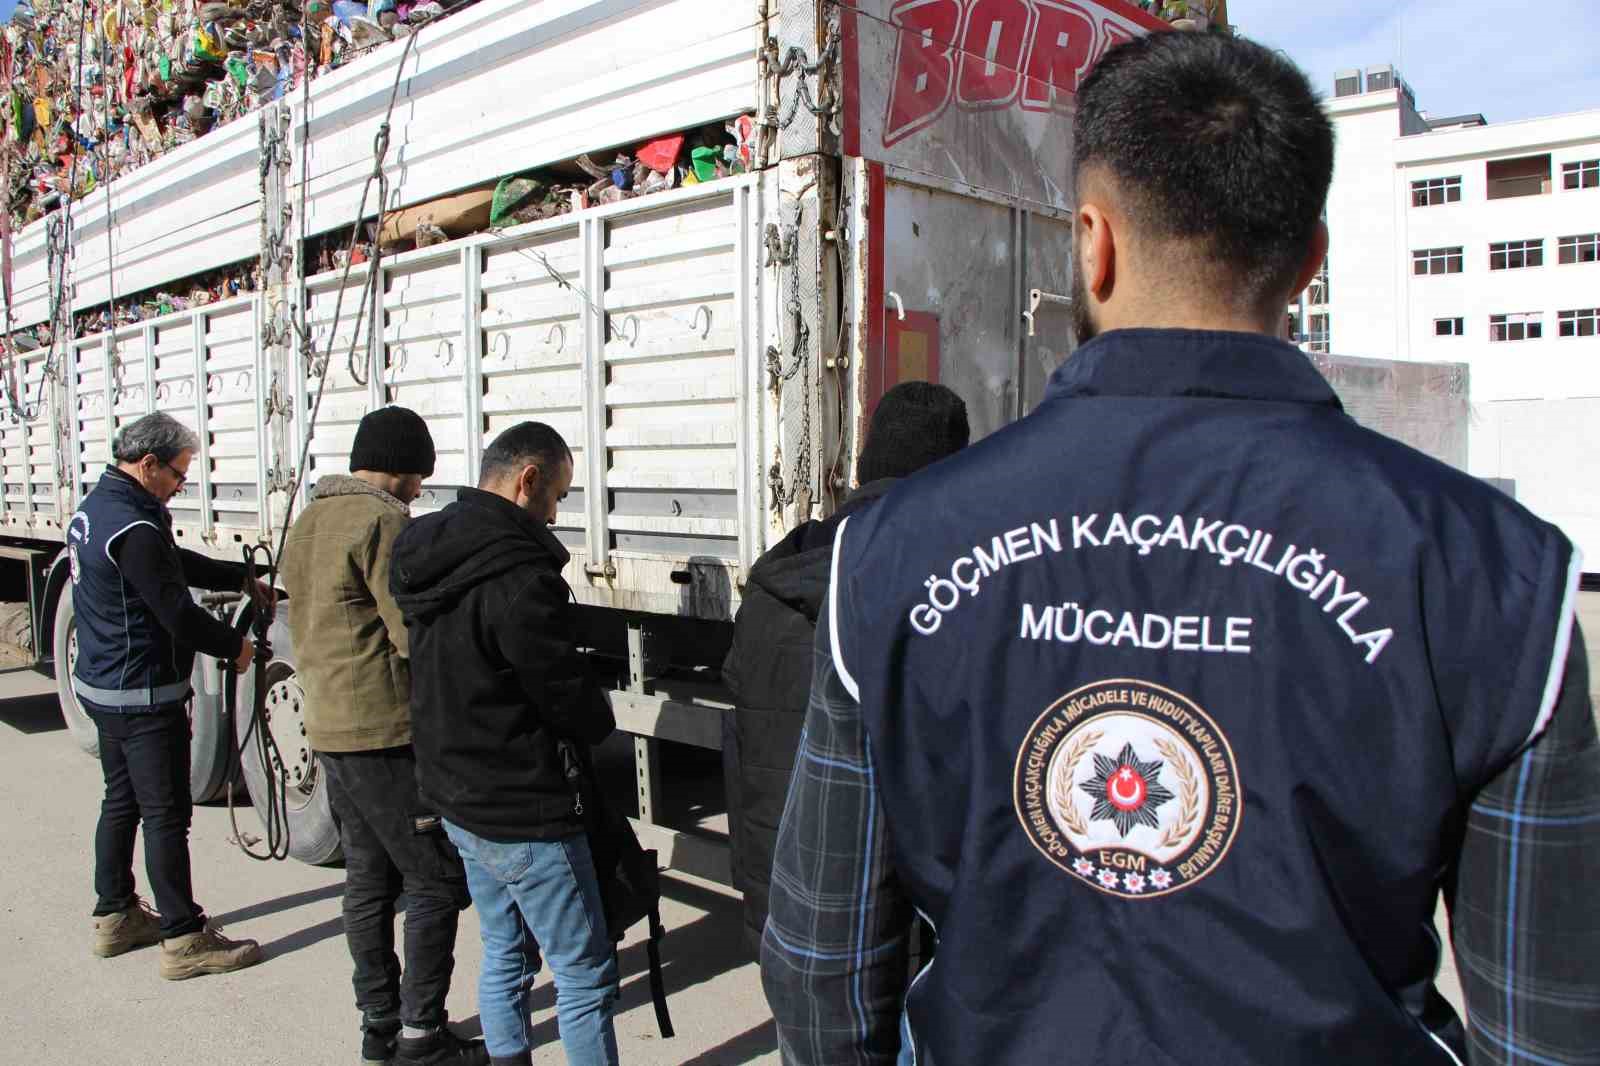
[[1282,53],[1158,32],[1106,53],[1078,88],[1077,181],[1104,168],[1133,226],[1192,242],[1251,306],[1294,282],[1333,181],[1333,123]]

